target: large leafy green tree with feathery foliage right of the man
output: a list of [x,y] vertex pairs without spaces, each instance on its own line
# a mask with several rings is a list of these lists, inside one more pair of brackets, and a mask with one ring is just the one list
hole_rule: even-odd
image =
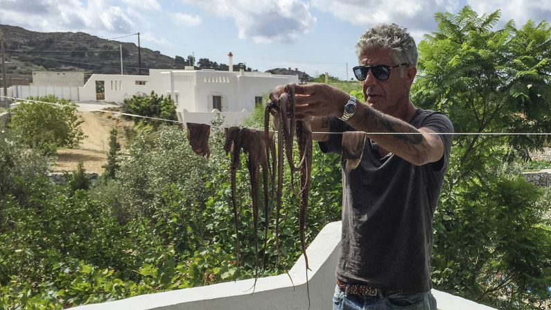
[[[455,132],[549,132],[551,28],[479,16],[468,6],[437,13],[419,43],[415,103],[442,111]],[[541,148],[543,135],[458,135],[435,214],[432,279],[438,289],[500,309],[538,309],[551,293],[550,205],[504,162]]]

